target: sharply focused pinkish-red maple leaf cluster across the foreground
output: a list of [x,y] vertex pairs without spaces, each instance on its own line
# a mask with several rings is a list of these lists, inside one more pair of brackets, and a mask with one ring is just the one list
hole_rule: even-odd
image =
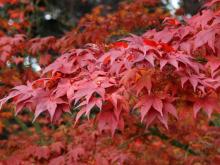
[[29,108],[36,119],[51,121],[77,111],[75,121],[98,109],[100,130],[124,128],[123,116],[140,113],[147,126],[168,114],[177,117],[181,102],[219,112],[219,11],[202,10],[184,24],[173,18],[164,28],[130,35],[109,48],[87,44],[71,49],[47,66],[40,79],[17,86],[0,103],[13,99],[15,112]]

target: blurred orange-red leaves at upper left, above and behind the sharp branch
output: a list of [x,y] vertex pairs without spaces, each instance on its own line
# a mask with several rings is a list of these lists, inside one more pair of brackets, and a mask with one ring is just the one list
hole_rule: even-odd
[[[54,36],[30,38],[36,26],[36,20],[32,18],[39,12],[38,10],[43,13],[47,11],[47,8],[37,6],[31,1],[17,0],[1,1],[1,5],[3,13],[0,14],[3,15],[0,19],[2,25],[0,97],[4,96],[10,88],[39,77],[39,74],[34,71],[35,68],[32,67],[34,64],[32,60],[37,60],[37,64],[44,68],[61,52],[66,52],[73,47],[81,47],[87,42],[104,44],[109,42],[108,38],[112,36],[114,38],[114,36],[125,35],[137,29],[156,26],[168,15],[168,13],[165,14],[161,5],[158,6],[158,1],[123,2],[116,11],[110,11],[106,6],[98,6],[92,13],[83,17],[76,28],[61,38]],[[151,10],[148,9],[149,6]],[[135,22],[129,21],[131,16],[132,20],[136,20]],[[141,19],[139,19],[140,16]],[[29,21],[28,24],[25,23],[27,21]],[[87,26],[88,22],[90,26]],[[129,26],[127,26],[128,23]],[[97,26],[98,31],[102,31],[103,34],[94,33]],[[4,106],[4,109],[8,109],[7,107],[11,106]]]

